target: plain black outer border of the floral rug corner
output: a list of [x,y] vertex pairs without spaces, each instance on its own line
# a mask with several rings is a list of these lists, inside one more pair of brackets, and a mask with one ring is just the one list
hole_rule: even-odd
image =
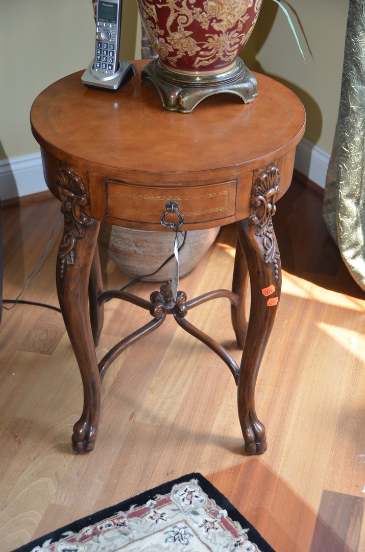
[[181,477],[178,477],[177,479],[173,479],[171,481],[167,481],[161,485],[158,485],[157,487],[154,487],[153,489],[148,489],[147,491],[143,491],[139,493],[139,495],[132,496],[131,498],[126,498],[126,500],[119,502],[119,504],[116,504],[114,506],[108,506],[108,508],[104,508],[102,510],[99,510],[98,512],[95,512],[91,514],[90,516],[85,516],[83,518],[77,519],[74,522],[68,523],[67,525],[60,527],[58,529],[55,529],[51,533],[48,533],[46,535],[43,535],[42,537],[39,537],[35,540],[32,540],[28,544],[23,544],[23,546],[20,546],[19,548],[15,548],[12,550],[12,552],[30,552],[35,548],[35,546],[41,546],[43,543],[46,542],[46,540],[51,540],[52,543],[56,542],[61,538],[63,533],[66,531],[72,531],[73,533],[78,533],[83,527],[87,525],[94,525],[95,523],[99,523],[100,521],[103,521],[105,518],[109,518],[114,516],[116,512],[120,511],[126,511],[131,506],[135,505],[137,507],[143,506],[146,502],[149,500],[153,500],[156,495],[165,495],[167,494],[174,485],[183,483],[183,482],[189,482],[191,479],[197,479],[198,484],[200,485],[202,491],[204,491],[210,498],[213,498],[213,500],[217,503],[219,507],[221,507],[223,510],[227,511],[228,517],[232,519],[232,521],[237,521],[242,528],[248,528],[248,538],[249,540],[253,540],[257,546],[259,546],[261,552],[275,552],[273,548],[271,548],[270,544],[266,542],[264,537],[261,536],[261,534],[255,529],[255,527],[246,519],[235,506],[231,502],[229,502],[228,498],[224,496],[214,485],[208,481],[202,474],[200,473],[191,473],[182,475]]

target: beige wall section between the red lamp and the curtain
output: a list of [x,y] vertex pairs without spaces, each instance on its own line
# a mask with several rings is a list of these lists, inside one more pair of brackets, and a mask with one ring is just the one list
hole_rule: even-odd
[[241,57],[251,70],[280,80],[298,94],[307,110],[305,137],[330,152],[339,109],[348,0],[290,0],[283,5],[291,14],[305,62],[285,14],[271,0],[264,0]]

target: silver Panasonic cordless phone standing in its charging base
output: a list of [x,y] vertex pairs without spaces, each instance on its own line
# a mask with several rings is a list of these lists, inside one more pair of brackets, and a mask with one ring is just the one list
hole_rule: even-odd
[[136,75],[133,63],[119,59],[121,20],[122,0],[96,2],[95,56],[81,77],[85,86],[115,92]]

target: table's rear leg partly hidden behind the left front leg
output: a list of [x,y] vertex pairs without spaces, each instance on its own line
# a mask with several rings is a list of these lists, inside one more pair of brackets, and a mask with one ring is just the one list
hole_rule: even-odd
[[103,280],[101,279],[99,250],[96,245],[89,279],[90,321],[95,347],[98,347],[104,323],[104,303],[100,304],[98,301],[100,293],[103,293]]

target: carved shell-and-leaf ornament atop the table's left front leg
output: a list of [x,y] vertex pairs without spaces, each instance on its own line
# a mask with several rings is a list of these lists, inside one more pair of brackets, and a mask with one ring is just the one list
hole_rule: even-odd
[[84,236],[83,227],[90,222],[90,217],[83,212],[89,198],[82,179],[68,167],[57,168],[57,189],[62,203],[61,212],[65,216],[65,228],[58,250],[60,278],[63,278],[66,265],[75,262],[74,250],[77,240]]

